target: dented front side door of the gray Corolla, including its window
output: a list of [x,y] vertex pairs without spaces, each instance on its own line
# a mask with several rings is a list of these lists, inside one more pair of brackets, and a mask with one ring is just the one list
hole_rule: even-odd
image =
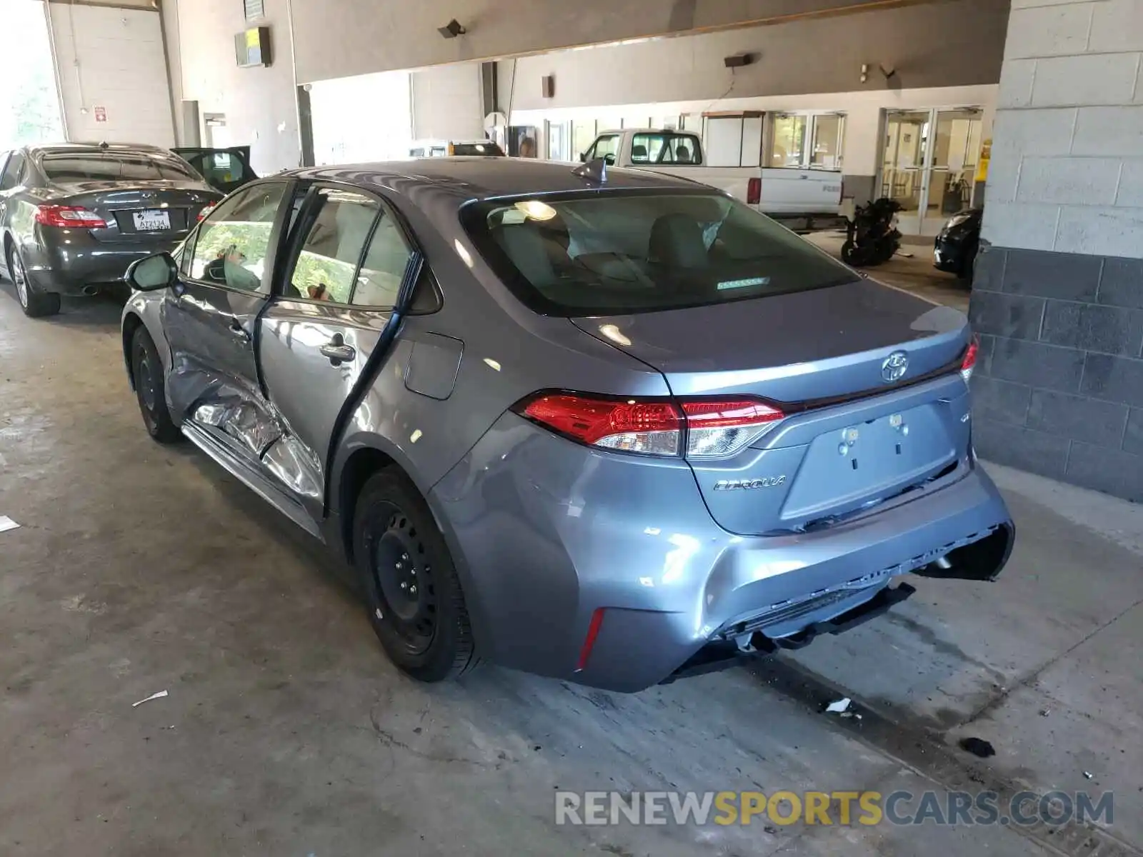
[[281,434],[262,393],[256,337],[286,189],[283,182],[263,183],[223,201],[187,242],[178,282],[161,310],[177,417],[251,467]]

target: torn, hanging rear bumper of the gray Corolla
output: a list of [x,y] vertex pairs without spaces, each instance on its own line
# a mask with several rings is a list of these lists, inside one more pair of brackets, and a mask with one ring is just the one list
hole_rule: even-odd
[[894,577],[989,537],[999,555],[954,554],[974,567],[946,576],[994,577],[1012,520],[983,471],[966,462],[960,474],[826,530],[735,536],[713,522],[685,463],[594,452],[506,415],[431,503],[485,656],[633,691],[711,644],[756,632],[797,641]]

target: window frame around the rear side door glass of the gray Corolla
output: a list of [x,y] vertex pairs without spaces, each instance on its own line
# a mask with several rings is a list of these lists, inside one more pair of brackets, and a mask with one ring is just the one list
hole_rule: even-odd
[[[301,255],[302,247],[305,243],[305,239],[310,235],[310,229],[313,226],[313,222],[310,218],[310,210],[313,207],[313,200],[317,198],[318,191],[322,189],[343,191],[350,193],[358,193],[362,197],[374,200],[378,206],[378,211],[373,218],[373,223],[369,225],[369,232],[366,235],[365,242],[361,245],[361,251],[358,254],[357,267],[353,270],[353,289],[350,291],[350,299],[347,303],[337,303],[333,301],[321,301],[320,298],[304,297],[301,295],[287,295],[285,294],[287,279],[293,277],[294,269],[297,265],[297,257]],[[243,189],[245,190],[245,189]],[[409,279],[409,273],[413,269],[418,266],[418,261],[423,262],[425,256],[421,248],[421,243],[416,240],[413,230],[409,227],[405,217],[400,214],[387,198],[383,194],[376,193],[375,191],[362,187],[355,184],[349,184],[346,182],[334,182],[329,179],[314,179],[309,183],[298,183],[295,189],[295,193],[304,190],[305,199],[302,202],[302,208],[298,209],[297,222],[293,224],[290,229],[290,234],[287,237],[285,245],[281,248],[282,265],[281,271],[275,271],[273,290],[271,291],[271,298],[280,301],[282,303],[291,304],[315,304],[318,306],[325,306],[329,309],[337,310],[360,310],[362,312],[393,312],[397,305],[384,306],[381,304],[354,304],[353,296],[357,294],[358,278],[361,274],[361,266],[365,264],[365,258],[369,253],[369,248],[373,245],[373,238],[377,233],[377,226],[381,224],[381,218],[389,215],[393,218],[393,224],[397,226],[398,232],[400,232],[401,238],[405,239],[405,243],[409,247],[409,261],[406,264],[405,275],[401,280],[401,286],[403,287]],[[423,269],[427,269],[427,263],[421,265]],[[433,278],[431,278],[433,279]],[[440,297],[440,289],[434,288],[438,295],[437,309],[439,310],[442,299]],[[398,299],[400,299],[400,294],[398,294]],[[435,310],[434,310],[435,312]]]

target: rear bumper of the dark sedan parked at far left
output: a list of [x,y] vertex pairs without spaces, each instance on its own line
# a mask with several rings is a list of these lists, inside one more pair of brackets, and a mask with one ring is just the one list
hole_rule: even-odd
[[81,230],[69,230],[64,245],[59,235],[41,235],[38,243],[21,248],[24,267],[33,288],[61,295],[82,295],[85,287],[121,282],[128,266],[163,250],[171,251],[179,239],[157,239],[141,243],[99,242]]

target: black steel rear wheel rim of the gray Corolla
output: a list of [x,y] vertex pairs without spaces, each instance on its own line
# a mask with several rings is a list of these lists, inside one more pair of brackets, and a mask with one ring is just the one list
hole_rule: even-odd
[[[437,590],[425,545],[413,521],[390,504],[385,531],[377,538],[370,566],[393,630],[410,655],[421,655],[437,635]],[[387,608],[387,609],[386,609]],[[383,618],[378,615],[377,618]]]

